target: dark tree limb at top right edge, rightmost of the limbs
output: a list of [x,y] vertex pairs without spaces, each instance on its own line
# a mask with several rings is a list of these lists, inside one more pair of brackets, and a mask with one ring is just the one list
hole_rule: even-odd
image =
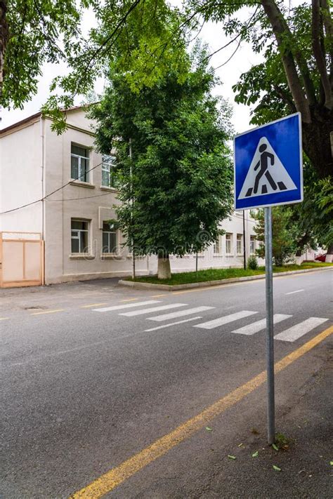
[[320,0],[312,0],[312,48],[317,63],[322,88],[325,93],[325,107],[332,109],[332,90],[326,69],[325,53],[322,53],[322,20],[320,19]]

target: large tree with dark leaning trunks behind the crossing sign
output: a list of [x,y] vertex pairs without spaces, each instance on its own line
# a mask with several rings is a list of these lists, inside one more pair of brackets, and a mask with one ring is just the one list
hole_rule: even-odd
[[[238,46],[248,41],[254,52],[263,54],[264,62],[244,73],[234,87],[237,102],[258,103],[252,122],[300,112],[306,155],[319,178],[332,175],[332,1],[312,0],[311,6],[291,9],[277,0],[188,0],[188,4],[192,11],[201,11],[204,20],[223,22]],[[242,21],[239,11],[245,5],[252,15]]]

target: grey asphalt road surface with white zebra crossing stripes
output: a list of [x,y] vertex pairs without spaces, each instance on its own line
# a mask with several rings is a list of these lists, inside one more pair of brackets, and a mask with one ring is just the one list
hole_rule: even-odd
[[[332,326],[332,275],[324,270],[275,277],[277,361]],[[4,498],[67,498],[266,367],[264,281],[176,293],[91,281],[1,290],[0,300]],[[301,428],[306,397],[306,407],[317,408],[315,417],[320,413],[318,425],[329,420],[331,338],[277,375],[278,430],[295,420]],[[309,383],[321,394],[308,392]],[[279,455],[272,461],[264,384],[207,427],[132,473],[107,497],[329,498],[325,463],[315,467],[310,482],[300,482],[295,459]],[[316,437],[322,453],[325,431]],[[244,456],[258,446],[260,467],[247,470]],[[242,448],[247,451],[238,457]],[[279,460],[289,469],[283,476],[271,471]]]

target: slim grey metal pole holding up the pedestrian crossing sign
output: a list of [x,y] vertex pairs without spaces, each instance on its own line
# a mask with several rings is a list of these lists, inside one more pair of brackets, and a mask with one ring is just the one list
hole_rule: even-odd
[[274,340],[273,340],[273,262],[272,208],[265,208],[265,267],[266,267],[266,350],[267,350],[267,415],[268,444],[275,441],[274,400]]

